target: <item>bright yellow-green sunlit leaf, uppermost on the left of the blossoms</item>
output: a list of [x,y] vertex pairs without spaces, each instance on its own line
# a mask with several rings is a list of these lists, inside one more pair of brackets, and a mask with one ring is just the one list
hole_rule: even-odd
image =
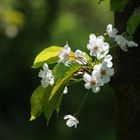
[[38,68],[44,63],[52,64],[58,61],[58,54],[62,50],[59,46],[50,46],[41,51],[35,58],[33,68]]

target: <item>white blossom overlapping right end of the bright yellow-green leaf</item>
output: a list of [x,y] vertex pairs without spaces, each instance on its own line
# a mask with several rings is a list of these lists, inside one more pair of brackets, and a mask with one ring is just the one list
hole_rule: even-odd
[[71,48],[69,47],[68,44],[66,44],[64,46],[64,49],[58,54],[58,63],[65,63],[67,60],[68,60],[68,57],[70,55],[70,52],[71,52]]

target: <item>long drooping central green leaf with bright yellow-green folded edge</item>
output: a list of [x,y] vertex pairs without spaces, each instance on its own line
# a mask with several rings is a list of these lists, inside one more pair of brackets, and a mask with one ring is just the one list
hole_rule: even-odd
[[69,67],[64,63],[57,64],[53,69],[55,84],[53,87],[47,87],[43,97],[43,111],[49,122],[54,110],[59,111],[64,88],[68,85],[73,74],[81,68],[81,65],[72,61]]

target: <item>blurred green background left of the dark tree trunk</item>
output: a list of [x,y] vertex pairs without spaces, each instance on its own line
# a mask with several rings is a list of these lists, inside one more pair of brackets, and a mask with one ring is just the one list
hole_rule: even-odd
[[63,116],[77,110],[83,83],[69,89],[48,126],[43,116],[29,122],[30,96],[40,83],[39,70],[31,69],[35,56],[66,41],[87,51],[89,34],[103,34],[108,23],[109,0],[0,0],[0,140],[115,140],[115,95],[108,85],[88,96],[77,129]]

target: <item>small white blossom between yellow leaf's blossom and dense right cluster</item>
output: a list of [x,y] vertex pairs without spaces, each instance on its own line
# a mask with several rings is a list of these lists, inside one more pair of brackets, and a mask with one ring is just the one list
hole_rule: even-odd
[[81,65],[86,65],[88,60],[86,58],[85,52],[82,52],[80,50],[75,51],[75,56],[77,58],[77,62]]

